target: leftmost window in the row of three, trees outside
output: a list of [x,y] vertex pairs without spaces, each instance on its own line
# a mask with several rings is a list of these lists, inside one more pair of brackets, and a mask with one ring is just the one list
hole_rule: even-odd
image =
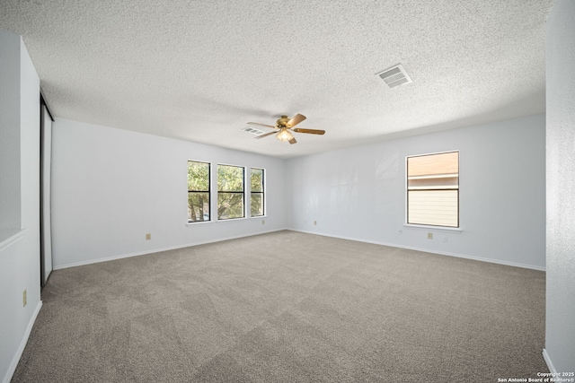
[[188,222],[209,221],[209,163],[188,161]]

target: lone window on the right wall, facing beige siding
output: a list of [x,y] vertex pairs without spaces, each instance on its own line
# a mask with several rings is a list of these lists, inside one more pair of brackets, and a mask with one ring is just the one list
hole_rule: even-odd
[[459,227],[459,152],[407,158],[407,223]]

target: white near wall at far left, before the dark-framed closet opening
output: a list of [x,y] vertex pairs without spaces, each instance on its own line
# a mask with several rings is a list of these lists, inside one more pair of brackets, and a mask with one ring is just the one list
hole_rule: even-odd
[[[9,135],[4,146],[17,146],[18,159],[8,172],[18,173],[19,195],[4,194],[18,206],[18,228],[0,242],[0,379],[7,382],[22,355],[40,302],[40,81],[22,39],[0,30],[0,57],[16,59],[18,65],[2,67],[17,87],[0,86],[0,114],[18,121],[18,135]],[[8,104],[4,104],[9,100]],[[17,100],[14,107],[12,101]],[[3,123],[4,123],[3,119]],[[6,126],[1,126],[2,129]],[[11,126],[13,128],[13,126]],[[5,138],[5,136],[3,136]],[[4,168],[3,168],[4,177]],[[22,292],[27,292],[27,305]]]

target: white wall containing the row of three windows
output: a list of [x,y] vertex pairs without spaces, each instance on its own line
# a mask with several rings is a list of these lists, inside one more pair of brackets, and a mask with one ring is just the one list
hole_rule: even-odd
[[[284,160],[66,119],[52,134],[54,268],[286,227]],[[187,225],[188,160],[264,168],[265,224]]]

